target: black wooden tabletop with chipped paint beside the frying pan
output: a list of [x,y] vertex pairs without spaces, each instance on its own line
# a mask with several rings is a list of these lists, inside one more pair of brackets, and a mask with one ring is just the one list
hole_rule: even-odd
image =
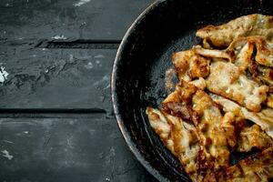
[[0,181],[155,181],[126,147],[109,85],[152,2],[0,1]]

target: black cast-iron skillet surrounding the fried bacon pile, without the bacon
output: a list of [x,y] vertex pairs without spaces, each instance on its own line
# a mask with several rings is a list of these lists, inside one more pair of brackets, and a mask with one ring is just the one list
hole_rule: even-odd
[[159,0],[138,16],[116,54],[112,99],[128,147],[159,181],[188,181],[179,162],[148,124],[147,106],[167,96],[165,73],[173,52],[197,45],[198,28],[241,15],[273,15],[271,0]]

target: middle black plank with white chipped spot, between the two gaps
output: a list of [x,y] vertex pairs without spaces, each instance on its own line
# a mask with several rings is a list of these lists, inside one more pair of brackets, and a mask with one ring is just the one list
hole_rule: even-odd
[[[0,108],[97,108],[112,111],[116,50],[0,46]],[[1,81],[0,74],[0,81]]]

